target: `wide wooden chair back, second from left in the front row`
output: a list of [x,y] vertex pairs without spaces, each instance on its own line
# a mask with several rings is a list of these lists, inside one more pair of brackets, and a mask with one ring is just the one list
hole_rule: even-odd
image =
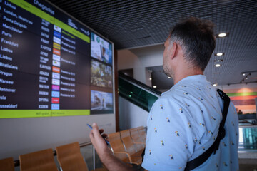
[[21,171],[58,171],[51,148],[20,155],[19,160]]

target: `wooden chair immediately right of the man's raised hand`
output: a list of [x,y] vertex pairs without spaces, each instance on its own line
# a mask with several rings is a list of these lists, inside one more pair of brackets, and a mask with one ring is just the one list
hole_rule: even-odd
[[121,135],[119,132],[109,134],[108,138],[109,138],[109,143],[111,145],[111,150],[112,152],[114,152],[114,156],[118,157],[120,160],[126,163],[131,163],[136,165],[141,164],[142,162],[141,157],[132,157],[129,154],[129,152],[126,152],[124,148],[124,144],[121,141]]

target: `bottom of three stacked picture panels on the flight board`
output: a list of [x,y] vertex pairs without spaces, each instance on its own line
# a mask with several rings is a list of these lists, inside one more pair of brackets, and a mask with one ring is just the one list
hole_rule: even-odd
[[103,91],[91,90],[91,113],[113,113],[113,95]]

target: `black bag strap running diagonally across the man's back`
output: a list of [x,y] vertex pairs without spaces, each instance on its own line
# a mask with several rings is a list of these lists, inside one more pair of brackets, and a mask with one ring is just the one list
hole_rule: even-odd
[[200,156],[198,156],[197,158],[191,160],[190,162],[186,163],[186,168],[185,171],[188,170],[193,170],[196,167],[200,166],[203,164],[203,162],[205,162],[208,157],[211,156],[211,154],[214,152],[214,155],[216,154],[216,151],[218,150],[219,144],[221,142],[221,140],[225,137],[225,122],[226,122],[226,116],[228,114],[228,107],[229,107],[229,103],[230,103],[230,98],[228,97],[228,95],[226,95],[226,93],[224,93],[222,90],[217,89],[218,94],[220,95],[221,99],[224,100],[224,108],[223,108],[223,117],[220,123],[220,126],[218,128],[218,136],[215,140],[215,142],[213,143],[213,145],[211,145],[211,147],[208,148],[208,150],[206,150],[206,152],[203,152],[203,154],[201,154]]

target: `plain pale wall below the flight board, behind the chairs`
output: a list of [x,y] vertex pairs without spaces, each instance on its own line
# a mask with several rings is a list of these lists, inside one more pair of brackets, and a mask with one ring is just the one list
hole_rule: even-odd
[[54,148],[71,142],[89,142],[86,123],[96,122],[106,133],[115,132],[115,115],[14,118],[0,120],[0,159]]

